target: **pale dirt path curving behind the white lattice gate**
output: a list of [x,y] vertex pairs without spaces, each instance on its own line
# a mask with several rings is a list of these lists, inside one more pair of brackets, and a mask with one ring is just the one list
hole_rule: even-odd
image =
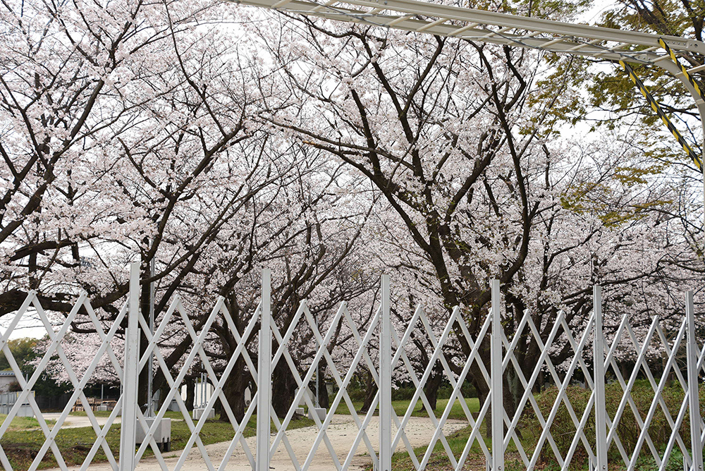
[[[443,432],[445,432],[446,434],[450,434],[455,430],[465,427],[465,425],[467,425],[467,422],[455,420],[450,421],[446,423],[445,427],[443,427]],[[318,429],[316,427],[303,427],[301,429],[294,429],[286,433],[289,443],[293,448],[294,454],[296,455],[296,458],[299,461],[299,465],[302,465],[306,460],[307,454],[309,453],[309,450],[311,449],[311,446],[314,440],[316,439],[317,432]],[[395,433],[396,427],[392,427],[392,434]],[[406,427],[406,435],[409,441],[411,442],[412,446],[415,447],[427,445],[433,434],[434,426],[431,424],[431,420],[425,417],[411,417]],[[353,445],[353,441],[355,441],[356,435],[357,426],[355,426],[355,422],[353,422],[352,417],[350,417],[349,415],[336,415],[333,417],[333,420],[331,421],[331,425],[328,430],[328,436],[331,441],[331,445],[333,446],[336,451],[336,454],[338,455],[338,460],[340,460],[341,463],[343,463],[346,456],[348,455],[350,447]],[[374,417],[370,422],[369,426],[367,427],[367,435],[369,436],[369,439],[372,442],[372,447],[376,451],[379,446],[379,420],[377,419],[377,417]],[[274,434],[271,436],[271,439],[274,439]],[[252,454],[255,455],[255,437],[250,437],[246,441],[247,445],[252,451]],[[209,459],[211,460],[211,463],[214,465],[216,470],[218,469],[221,460],[225,455],[226,450],[228,449],[229,444],[229,442],[223,442],[206,446]],[[397,451],[402,450],[403,447],[403,444],[400,444],[397,447]],[[172,470],[178,462],[181,453],[182,451],[176,451],[164,454],[164,457],[166,458],[166,465],[170,470]],[[364,445],[364,442],[362,442],[355,451],[355,458],[353,458],[353,462],[348,469],[350,471],[362,470],[362,466],[369,462],[370,459],[369,455],[367,454],[367,447]],[[157,463],[156,458],[142,459],[137,465],[137,471],[158,471],[160,469],[161,468],[159,467],[159,463]],[[186,458],[182,469],[188,471],[205,471],[208,468],[204,463],[204,460],[198,449],[192,448],[190,453],[188,453],[188,458]],[[278,446],[276,452],[272,456],[269,469],[275,471],[293,471],[296,469],[291,463],[291,458],[289,457],[286,448],[283,446],[283,444],[280,444]],[[312,464],[308,469],[309,471],[331,471],[336,469],[335,465],[333,465],[331,455],[329,455],[328,449],[326,448],[323,442],[321,442],[321,445],[319,446],[318,451],[314,456],[314,460],[312,461]],[[72,470],[78,470],[78,467],[72,468]],[[92,465],[90,467],[90,470],[110,471],[111,468],[107,463],[104,463],[100,465]],[[243,451],[242,446],[238,445],[235,448],[235,452],[233,453],[231,459],[228,461],[226,470],[251,470],[250,463],[245,457],[245,452]]]

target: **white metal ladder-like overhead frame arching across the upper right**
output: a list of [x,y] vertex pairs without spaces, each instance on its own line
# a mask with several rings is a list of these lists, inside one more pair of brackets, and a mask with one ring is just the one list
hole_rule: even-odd
[[[225,1],[329,20],[539,49],[556,54],[649,64],[681,80],[697,105],[701,121],[705,117],[705,101],[659,43],[659,39],[662,39],[675,54],[690,52],[705,56],[705,43],[695,39],[577,25],[417,0]],[[687,73],[703,70],[705,65],[689,68]]]

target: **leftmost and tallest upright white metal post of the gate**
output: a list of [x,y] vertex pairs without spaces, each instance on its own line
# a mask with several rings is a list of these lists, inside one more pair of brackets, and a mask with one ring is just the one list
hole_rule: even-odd
[[125,333],[125,365],[123,367],[123,418],[120,427],[120,471],[135,469],[135,430],[137,429],[137,369],[140,362],[140,262],[130,264],[130,297],[128,330]]

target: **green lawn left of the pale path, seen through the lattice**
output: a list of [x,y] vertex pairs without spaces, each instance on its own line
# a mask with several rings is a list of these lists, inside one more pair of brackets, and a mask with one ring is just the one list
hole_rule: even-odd
[[[97,413],[97,415],[104,414],[109,415],[109,412],[107,414],[106,412]],[[178,415],[178,417],[174,414]],[[85,415],[85,412],[74,412],[72,415]],[[173,417],[171,417],[173,419],[182,419],[171,422],[171,450],[182,450],[188,441],[191,432],[188,429],[186,422],[183,421],[183,416],[180,412],[168,412],[168,415],[173,415]],[[256,421],[257,417],[252,417],[250,422],[247,423],[247,427],[245,427],[245,437],[255,435]],[[292,420],[289,424],[289,429],[308,427],[312,424],[314,424],[314,422],[307,418]],[[38,425],[35,425],[35,427],[37,426]],[[274,430],[274,424],[272,425],[272,429]],[[230,441],[233,439],[234,435],[235,432],[233,431],[233,426],[231,424],[220,422],[219,420],[209,420],[204,425],[200,437],[204,445],[209,445],[221,441]],[[69,466],[81,465],[90,451],[94,441],[95,433],[90,427],[61,429],[61,432],[59,432],[56,436],[56,444],[59,446],[63,460],[65,460],[66,464]],[[118,460],[120,451],[120,424],[114,424],[110,427],[110,431],[106,436],[106,441],[108,442],[115,459]],[[41,448],[42,444],[44,444],[44,434],[37,429],[15,429],[6,432],[2,439],[0,439],[0,444],[2,445],[5,453],[7,453],[13,469],[26,470],[37,455],[39,448]],[[145,456],[150,456],[153,454],[154,453],[152,452],[151,447],[145,452]],[[166,455],[171,455],[171,453],[166,453]],[[93,458],[92,463],[100,463],[105,461],[107,461],[105,453],[102,448],[100,448],[98,453],[96,453]],[[42,463],[39,464],[39,469],[56,466],[57,464],[54,453],[47,451],[47,454],[44,455],[44,458],[42,458]]]

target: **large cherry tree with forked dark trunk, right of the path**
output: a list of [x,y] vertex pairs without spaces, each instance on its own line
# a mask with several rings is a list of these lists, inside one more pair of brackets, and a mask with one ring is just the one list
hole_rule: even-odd
[[[642,167],[630,175],[608,154],[613,146],[595,147],[588,164],[556,139],[553,110],[570,100],[560,82],[548,99],[529,99],[546,87],[536,83],[545,74],[540,54],[308,18],[281,23],[252,27],[271,59],[259,75],[288,83],[288,106],[263,116],[369,179],[393,213],[388,225],[401,226],[390,246],[404,248],[386,252],[388,266],[415,252],[407,269],[423,276],[429,304],[462,306],[471,335],[489,279],[500,279],[510,318],[530,307],[547,336],[558,310],[584,322],[590,283],[622,286],[619,298],[692,259],[684,240],[658,231],[670,219],[669,188],[644,192],[649,182],[633,179]],[[637,250],[640,236],[648,248]],[[643,256],[661,247],[663,256]],[[635,262],[628,270],[627,258]],[[485,360],[488,348],[483,341]],[[538,345],[520,348],[530,371]],[[489,386],[475,365],[471,375],[484,397]],[[513,410],[519,382],[506,381]]]

